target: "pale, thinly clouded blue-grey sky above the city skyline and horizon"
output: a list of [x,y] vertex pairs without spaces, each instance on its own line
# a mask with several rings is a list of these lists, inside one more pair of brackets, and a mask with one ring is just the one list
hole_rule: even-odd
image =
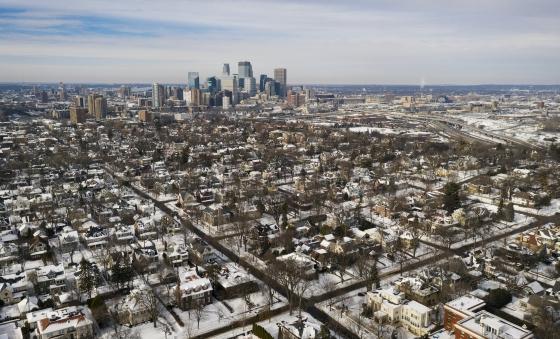
[[0,82],[559,84],[558,0],[0,0]]

